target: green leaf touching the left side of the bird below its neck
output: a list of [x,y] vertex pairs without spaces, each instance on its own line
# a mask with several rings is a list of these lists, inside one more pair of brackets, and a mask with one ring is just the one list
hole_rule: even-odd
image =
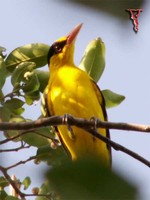
[[49,71],[42,71],[42,70],[35,70],[34,73],[37,74],[37,77],[39,79],[40,82],[40,92],[43,93],[45,87],[48,84],[48,80],[49,80]]

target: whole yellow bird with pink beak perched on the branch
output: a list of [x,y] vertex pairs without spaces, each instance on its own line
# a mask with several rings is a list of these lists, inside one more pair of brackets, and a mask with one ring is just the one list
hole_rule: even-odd
[[[50,78],[43,95],[45,116],[71,114],[74,117],[107,120],[103,95],[85,72],[74,64],[75,39],[82,27],[77,25],[67,36],[56,40],[48,53]],[[72,133],[71,133],[72,132]],[[109,130],[99,128],[98,132],[110,137]],[[67,126],[57,127],[58,137],[72,160],[96,159],[111,162],[111,149],[101,140],[85,130]]]

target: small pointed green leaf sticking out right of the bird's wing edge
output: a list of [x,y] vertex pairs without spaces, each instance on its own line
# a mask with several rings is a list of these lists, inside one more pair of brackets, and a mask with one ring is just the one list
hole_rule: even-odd
[[107,108],[118,106],[125,99],[125,96],[114,93],[111,90],[103,90],[102,93]]

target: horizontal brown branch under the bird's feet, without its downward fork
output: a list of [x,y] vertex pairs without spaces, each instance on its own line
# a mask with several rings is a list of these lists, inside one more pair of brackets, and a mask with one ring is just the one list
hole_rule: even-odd
[[[93,120],[87,120],[83,118],[76,118],[73,116],[68,116],[67,123],[70,126],[78,126],[80,128],[90,128],[95,126],[95,122]],[[0,130],[27,130],[27,129],[35,129],[39,127],[45,126],[57,126],[57,125],[65,125],[64,116],[52,116],[48,118],[41,118],[32,122],[1,122]],[[127,131],[138,131],[138,132],[150,132],[150,125],[142,125],[142,124],[131,124],[131,123],[123,123],[123,122],[104,122],[97,119],[97,128],[109,128],[116,130],[127,130]]]

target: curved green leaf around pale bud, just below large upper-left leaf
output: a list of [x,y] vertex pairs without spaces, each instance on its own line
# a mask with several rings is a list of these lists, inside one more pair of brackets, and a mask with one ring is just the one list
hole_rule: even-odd
[[26,81],[25,73],[32,72],[35,69],[35,63],[33,62],[24,62],[19,64],[13,71],[11,77],[11,83],[15,87],[20,84],[20,82]]

